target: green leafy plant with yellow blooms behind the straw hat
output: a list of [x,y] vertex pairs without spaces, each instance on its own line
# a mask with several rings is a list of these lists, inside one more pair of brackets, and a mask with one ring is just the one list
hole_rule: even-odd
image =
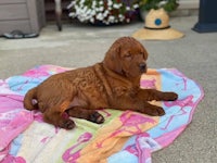
[[151,9],[161,9],[163,8],[166,12],[173,12],[179,7],[179,0],[141,0],[139,2],[139,10],[141,18],[144,18],[144,15]]

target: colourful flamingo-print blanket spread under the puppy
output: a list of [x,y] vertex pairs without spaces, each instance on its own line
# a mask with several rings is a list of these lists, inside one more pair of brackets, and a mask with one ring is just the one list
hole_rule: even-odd
[[204,96],[203,89],[178,70],[149,70],[141,87],[179,95],[177,101],[159,103],[166,115],[99,110],[105,117],[102,125],[74,118],[76,128],[65,130],[44,123],[40,112],[25,110],[23,98],[50,75],[67,70],[41,65],[0,79],[0,162],[150,163],[152,152],[173,143],[190,124]]

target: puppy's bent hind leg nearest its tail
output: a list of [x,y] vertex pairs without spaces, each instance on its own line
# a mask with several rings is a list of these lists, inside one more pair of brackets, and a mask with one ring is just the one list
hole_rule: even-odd
[[61,105],[55,105],[53,108],[47,109],[43,113],[43,120],[47,123],[65,129],[73,129],[75,127],[75,123],[68,117],[64,116],[64,112],[62,112]]

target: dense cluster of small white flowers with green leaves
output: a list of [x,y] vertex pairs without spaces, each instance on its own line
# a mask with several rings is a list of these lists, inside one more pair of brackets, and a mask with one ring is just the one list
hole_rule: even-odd
[[138,8],[138,0],[73,0],[67,7],[73,18],[105,25],[129,23]]

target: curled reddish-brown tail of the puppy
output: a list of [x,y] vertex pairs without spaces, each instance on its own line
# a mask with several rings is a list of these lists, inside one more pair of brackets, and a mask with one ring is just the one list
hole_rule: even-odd
[[36,87],[30,89],[24,97],[24,108],[27,110],[37,110],[38,103],[34,103],[36,100]]

